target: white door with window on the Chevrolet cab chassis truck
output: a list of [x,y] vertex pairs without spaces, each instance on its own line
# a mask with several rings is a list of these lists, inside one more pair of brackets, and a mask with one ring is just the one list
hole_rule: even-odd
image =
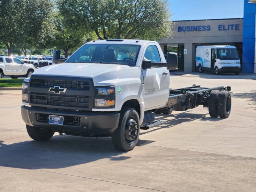
[[[148,44],[145,47],[144,57],[151,62],[165,62],[161,60],[158,48],[154,44]],[[144,77],[145,110],[163,106],[169,96],[169,70],[166,67],[151,67],[142,69],[142,74]]]

